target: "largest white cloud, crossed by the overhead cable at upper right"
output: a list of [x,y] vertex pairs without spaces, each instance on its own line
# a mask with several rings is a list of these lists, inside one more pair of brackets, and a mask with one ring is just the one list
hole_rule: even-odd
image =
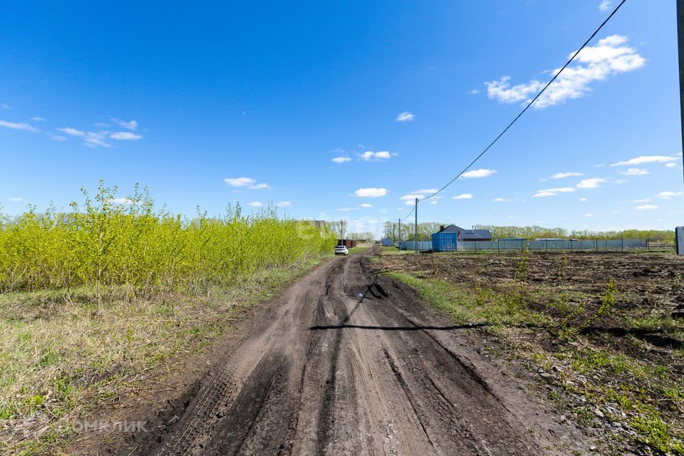
[[[580,98],[591,90],[589,86],[594,81],[603,81],[608,76],[641,68],[646,60],[636,52],[636,48],[623,46],[626,42],[625,36],[611,35],[594,46],[586,46],[576,56],[576,64],[568,66],[541,94],[533,107],[543,109],[569,98]],[[570,53],[570,56],[573,54]],[[551,73],[556,74],[559,70],[556,68]],[[487,96],[502,103],[528,103],[545,85],[532,80],[527,84],[510,86],[510,79],[510,76],[503,76],[499,81],[485,82]]]

